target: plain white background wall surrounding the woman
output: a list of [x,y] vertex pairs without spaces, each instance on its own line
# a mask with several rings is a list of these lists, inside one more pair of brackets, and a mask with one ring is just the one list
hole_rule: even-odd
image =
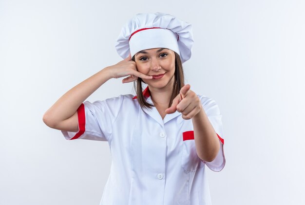
[[[121,27],[164,12],[193,25],[191,90],[223,114],[213,205],[304,205],[304,0],[0,0],[0,205],[98,205],[107,142],[65,140],[42,115],[121,58]],[[88,100],[133,93],[112,79]]]

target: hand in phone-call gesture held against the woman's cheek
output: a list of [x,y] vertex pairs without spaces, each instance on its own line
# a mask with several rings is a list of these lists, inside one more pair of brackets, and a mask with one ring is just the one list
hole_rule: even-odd
[[138,77],[143,79],[152,79],[152,76],[144,75],[137,71],[136,64],[132,60],[131,55],[129,55],[124,60],[118,62],[117,64],[107,67],[107,69],[109,70],[109,72],[111,72],[113,78],[125,77],[129,75],[128,77],[122,80],[122,83],[133,82]]

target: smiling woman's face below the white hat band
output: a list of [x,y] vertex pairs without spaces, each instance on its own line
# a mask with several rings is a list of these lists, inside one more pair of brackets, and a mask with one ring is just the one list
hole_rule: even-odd
[[166,48],[153,48],[138,52],[134,56],[138,72],[152,76],[142,79],[152,88],[172,89],[175,73],[175,53]]

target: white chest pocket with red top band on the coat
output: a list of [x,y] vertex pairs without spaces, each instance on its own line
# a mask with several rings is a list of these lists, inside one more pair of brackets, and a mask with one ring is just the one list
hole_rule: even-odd
[[196,152],[194,131],[183,132],[182,139],[183,149],[181,166],[187,172],[195,171],[200,164],[200,158]]

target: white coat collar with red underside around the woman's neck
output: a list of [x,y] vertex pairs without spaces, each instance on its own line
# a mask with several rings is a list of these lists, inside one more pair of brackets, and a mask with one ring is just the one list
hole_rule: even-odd
[[[148,86],[144,89],[143,95],[146,98],[146,101],[153,105],[152,98],[151,98],[151,93],[149,91]],[[134,96],[133,99],[137,99],[137,96]],[[166,114],[164,119],[162,120],[162,117],[161,117],[160,113],[157,111],[157,109],[154,106],[152,107],[152,109],[144,108],[143,111],[146,112],[148,115],[150,115],[161,126],[164,126],[165,123],[167,123],[170,120],[172,120],[173,118],[181,115],[181,112],[176,111],[172,114]]]

